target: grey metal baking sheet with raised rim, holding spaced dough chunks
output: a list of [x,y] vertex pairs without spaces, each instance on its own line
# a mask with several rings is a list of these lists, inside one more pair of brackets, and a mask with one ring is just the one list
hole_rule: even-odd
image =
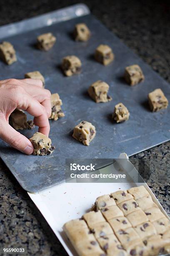
[[[122,152],[130,156],[170,139],[170,108],[151,113],[147,104],[148,93],[156,88],[161,88],[170,100],[170,85],[88,12],[85,5],[74,5],[51,16],[49,13],[0,28],[1,41],[10,41],[18,57],[18,62],[11,66],[0,62],[1,79],[22,79],[26,72],[39,70],[45,77],[45,87],[59,93],[65,113],[64,118],[50,120],[50,138],[56,147],[50,156],[26,156],[0,141],[2,160],[29,192],[62,182],[65,159],[107,158],[111,162]],[[88,42],[72,40],[71,32],[80,22],[86,23],[92,32]],[[7,38],[6,31],[12,31]],[[50,51],[42,52],[35,48],[35,42],[38,35],[46,32],[52,32],[57,41]],[[115,60],[107,67],[93,59],[99,44],[108,44],[115,54]],[[71,54],[81,59],[82,73],[65,77],[59,66],[62,58]],[[139,64],[145,74],[145,81],[135,87],[122,79],[130,64]],[[96,104],[87,95],[87,88],[98,79],[110,85],[111,102]],[[110,119],[118,102],[130,111],[128,122],[116,124]],[[80,120],[90,121],[96,127],[97,134],[90,146],[72,138],[72,129]],[[37,128],[22,133],[30,138],[35,131]]]

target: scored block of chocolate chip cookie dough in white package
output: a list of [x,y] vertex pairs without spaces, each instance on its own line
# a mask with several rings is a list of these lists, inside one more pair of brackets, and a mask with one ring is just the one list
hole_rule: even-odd
[[[150,211],[149,219],[146,212],[136,207],[138,205],[136,201],[148,195],[150,194],[147,189],[140,186],[97,197],[95,202],[97,212],[87,212],[82,216],[83,220],[66,223],[63,229],[72,245],[76,250],[77,243],[81,245],[81,250],[77,250],[78,255],[99,255],[98,251],[87,250],[87,246],[90,245],[89,239],[93,239],[94,245],[100,245],[103,251],[100,256],[158,256],[159,253],[169,253],[170,220],[163,212],[164,217],[160,215],[161,211],[158,207],[155,213],[153,210]],[[147,204],[149,202],[151,207],[148,205],[148,210],[153,208],[153,202],[148,201]],[[145,204],[141,201],[140,205],[142,203]],[[127,216],[125,217],[124,214]],[[155,220],[156,215],[158,220]]]

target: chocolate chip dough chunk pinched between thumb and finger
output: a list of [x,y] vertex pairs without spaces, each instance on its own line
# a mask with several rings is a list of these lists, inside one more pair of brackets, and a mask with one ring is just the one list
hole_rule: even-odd
[[55,150],[55,147],[51,145],[51,139],[42,133],[34,133],[30,141],[34,147],[33,155],[47,156]]

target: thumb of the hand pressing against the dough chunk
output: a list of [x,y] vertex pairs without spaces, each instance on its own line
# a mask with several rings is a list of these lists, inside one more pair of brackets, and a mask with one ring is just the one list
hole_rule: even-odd
[[25,154],[32,154],[33,146],[28,138],[15,131],[6,120],[0,120],[0,138]]

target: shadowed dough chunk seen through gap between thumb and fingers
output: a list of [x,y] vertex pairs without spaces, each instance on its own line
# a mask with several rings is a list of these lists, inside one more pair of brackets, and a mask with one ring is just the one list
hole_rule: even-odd
[[15,109],[13,113],[10,114],[9,124],[15,130],[23,130],[23,129],[33,129],[35,125],[32,120],[27,121],[27,115],[23,110]]

